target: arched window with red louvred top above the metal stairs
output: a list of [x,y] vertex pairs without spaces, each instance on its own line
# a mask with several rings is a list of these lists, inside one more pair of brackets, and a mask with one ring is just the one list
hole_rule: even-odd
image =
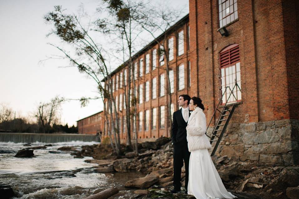
[[[235,86],[237,82],[238,86],[241,88],[241,72],[240,72],[240,54],[239,54],[239,45],[233,44],[226,47],[220,52],[220,68],[221,68],[221,90],[222,90],[222,103],[234,102],[242,99],[241,91],[238,87]],[[233,90],[231,94],[230,87]],[[237,99],[235,99],[235,97]]]

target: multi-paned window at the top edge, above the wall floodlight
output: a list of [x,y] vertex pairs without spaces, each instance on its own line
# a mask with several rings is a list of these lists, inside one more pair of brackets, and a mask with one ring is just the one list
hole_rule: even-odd
[[219,27],[226,26],[238,18],[237,0],[218,0]]

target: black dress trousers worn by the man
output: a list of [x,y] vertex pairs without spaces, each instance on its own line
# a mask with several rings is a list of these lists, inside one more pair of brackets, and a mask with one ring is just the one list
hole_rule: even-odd
[[174,143],[173,147],[173,186],[176,191],[181,190],[181,172],[183,166],[183,160],[185,162],[185,188],[188,188],[189,180],[189,158],[190,152],[188,151],[187,142]]

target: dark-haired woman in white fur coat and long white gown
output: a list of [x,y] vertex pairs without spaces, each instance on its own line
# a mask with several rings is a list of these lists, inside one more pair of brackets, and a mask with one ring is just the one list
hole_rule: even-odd
[[192,97],[189,104],[192,111],[187,124],[189,160],[188,194],[197,199],[236,198],[225,189],[212,162],[208,149],[211,148],[206,133],[206,116],[202,100]]

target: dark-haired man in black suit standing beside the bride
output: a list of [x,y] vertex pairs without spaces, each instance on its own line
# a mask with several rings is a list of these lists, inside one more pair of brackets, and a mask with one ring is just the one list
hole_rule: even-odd
[[187,193],[188,178],[189,178],[189,158],[190,152],[188,151],[187,144],[187,122],[190,116],[189,111],[189,95],[180,95],[177,101],[178,105],[182,108],[173,113],[172,119],[172,144],[173,144],[173,187],[170,192],[177,193],[181,191],[181,172],[183,160],[185,162],[185,188]]

